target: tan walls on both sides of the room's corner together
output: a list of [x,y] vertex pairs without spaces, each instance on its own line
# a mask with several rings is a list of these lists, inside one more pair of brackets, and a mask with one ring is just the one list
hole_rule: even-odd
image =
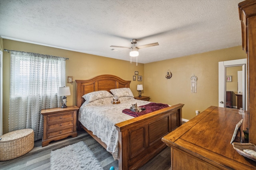
[[[152,102],[162,102],[170,105],[183,103],[183,118],[192,119],[195,110],[203,111],[209,106],[218,106],[218,62],[234,59],[244,59],[246,54],[240,46],[186,57],[180,57],[148,64],[110,59],[22,43],[4,39],[4,49],[26,51],[66,57],[66,76],[73,80],[88,79],[100,74],[114,74],[124,80],[131,80],[130,88],[134,96],[138,96],[137,84],[143,84],[142,95],[150,96]],[[166,79],[165,74],[170,69],[172,78]],[[132,81],[134,71],[143,76],[142,82]],[[190,92],[190,77],[198,77],[197,93]],[[66,83],[70,86],[71,96],[67,96],[67,105],[76,105],[76,83]],[[4,52],[3,58],[3,120],[4,133],[8,132],[8,114],[10,100],[10,53]]]

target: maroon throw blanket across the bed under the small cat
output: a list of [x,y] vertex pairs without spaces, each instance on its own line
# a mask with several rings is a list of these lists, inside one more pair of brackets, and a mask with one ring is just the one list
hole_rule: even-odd
[[149,103],[149,104],[146,104],[146,105],[142,105],[142,106],[139,106],[139,107],[144,107],[146,110],[143,110],[141,112],[134,112],[134,111],[131,111],[130,109],[124,109],[123,113],[125,113],[127,115],[130,115],[130,116],[133,116],[133,117],[138,117],[138,116],[150,113],[152,111],[156,111],[156,110],[159,110],[159,109],[163,109],[165,107],[169,107],[169,105],[168,104],[153,103],[152,102],[152,103]]

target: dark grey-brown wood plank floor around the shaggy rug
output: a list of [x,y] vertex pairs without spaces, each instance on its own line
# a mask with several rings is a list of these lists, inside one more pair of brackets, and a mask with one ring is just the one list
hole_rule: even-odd
[[[42,141],[36,141],[34,148],[27,154],[13,160],[0,161],[1,170],[49,170],[50,153],[52,150],[60,149],[84,141],[92,150],[104,170],[114,166],[118,170],[118,160],[114,161],[112,155],[96,142],[86,131],[78,132],[77,137],[68,137],[60,141],[52,141],[48,146],[42,147]],[[168,170],[170,169],[170,148],[166,147],[157,156],[152,158],[140,170]]]

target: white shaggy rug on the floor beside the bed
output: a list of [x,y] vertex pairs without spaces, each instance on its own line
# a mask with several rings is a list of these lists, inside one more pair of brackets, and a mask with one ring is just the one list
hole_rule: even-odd
[[51,170],[103,170],[83,141],[51,152]]

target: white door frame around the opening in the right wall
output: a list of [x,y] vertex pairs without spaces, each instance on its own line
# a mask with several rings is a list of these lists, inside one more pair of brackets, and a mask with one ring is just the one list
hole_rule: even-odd
[[246,59],[220,61],[219,62],[219,107],[226,106],[226,67],[242,66],[242,91],[243,91],[243,110],[247,110],[247,77]]

